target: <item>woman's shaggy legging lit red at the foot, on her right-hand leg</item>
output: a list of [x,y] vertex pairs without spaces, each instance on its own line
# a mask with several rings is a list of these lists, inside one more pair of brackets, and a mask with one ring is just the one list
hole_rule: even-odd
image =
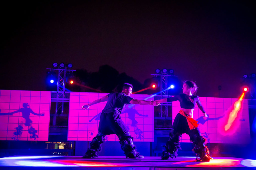
[[200,132],[189,136],[190,140],[195,145],[193,150],[196,153],[196,161],[209,162],[212,158],[210,157],[209,149],[206,146],[205,138],[201,136]]

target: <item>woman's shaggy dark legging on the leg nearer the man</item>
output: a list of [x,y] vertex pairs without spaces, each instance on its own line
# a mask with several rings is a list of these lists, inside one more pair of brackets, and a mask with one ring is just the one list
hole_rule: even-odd
[[164,146],[165,151],[163,151],[163,156],[161,156],[163,160],[167,160],[169,157],[173,158],[173,156],[176,158],[178,156],[178,149],[181,149],[179,144],[180,137],[181,134],[174,134],[174,129],[171,129],[170,139],[166,142],[166,145]]

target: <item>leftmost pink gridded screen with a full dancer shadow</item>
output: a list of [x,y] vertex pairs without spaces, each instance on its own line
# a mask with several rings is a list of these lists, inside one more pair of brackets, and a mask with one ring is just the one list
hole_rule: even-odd
[[51,92],[0,90],[0,140],[47,141]]

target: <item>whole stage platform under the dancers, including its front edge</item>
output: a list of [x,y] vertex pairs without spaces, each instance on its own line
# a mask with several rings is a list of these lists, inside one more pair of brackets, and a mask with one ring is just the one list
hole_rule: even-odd
[[177,157],[161,160],[145,156],[126,159],[125,156],[99,156],[82,159],[81,156],[9,156],[0,158],[0,169],[256,169],[256,160],[235,157],[214,157],[210,162],[195,162],[195,157]]

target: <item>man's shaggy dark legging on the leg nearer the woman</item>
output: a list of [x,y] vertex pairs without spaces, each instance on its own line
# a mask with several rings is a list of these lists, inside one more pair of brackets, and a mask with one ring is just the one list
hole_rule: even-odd
[[124,151],[126,158],[138,158],[140,153],[137,151],[135,145],[133,144],[133,138],[131,136],[118,136],[121,148]]

